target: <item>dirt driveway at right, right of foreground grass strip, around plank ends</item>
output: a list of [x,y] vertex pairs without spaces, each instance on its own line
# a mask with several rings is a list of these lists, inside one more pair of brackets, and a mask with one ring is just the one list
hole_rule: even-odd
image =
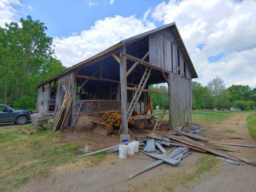
[[[229,117],[229,119],[220,121],[220,122],[196,122],[197,124],[204,127],[212,127],[208,130],[208,133],[217,134],[217,135],[228,135],[228,136],[237,136],[244,139],[225,139],[220,138],[219,136],[206,135],[212,141],[215,142],[225,142],[225,143],[240,143],[240,144],[249,144],[255,145],[255,140],[253,140],[246,127],[246,117],[247,113],[238,114],[235,116]],[[226,130],[234,130],[233,133],[226,132]],[[240,150],[241,153],[229,152],[230,154],[244,157],[256,161],[256,148],[246,148],[239,146],[230,146],[223,145],[226,147],[232,147],[234,149]],[[222,162],[219,166],[220,173],[213,177],[209,178],[204,175],[204,179],[197,179],[197,181],[189,187],[178,188],[177,191],[181,192],[197,192],[197,191],[225,191],[225,192],[234,192],[234,191],[256,191],[256,167],[251,165],[234,165],[227,162]]]

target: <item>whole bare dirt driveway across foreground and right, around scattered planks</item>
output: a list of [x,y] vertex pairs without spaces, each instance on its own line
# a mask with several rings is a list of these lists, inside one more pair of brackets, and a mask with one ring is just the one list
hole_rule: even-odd
[[[255,141],[250,138],[246,128],[246,116],[241,113],[223,121],[196,122],[207,127],[207,133],[239,136],[244,139],[220,139],[219,136],[205,135],[209,139],[218,142],[246,143],[255,145]],[[230,147],[230,146],[229,146]],[[232,153],[237,156],[256,161],[256,148],[242,148],[232,146],[241,153]],[[23,186],[19,191],[152,191],[140,188],[142,183],[147,183],[151,179],[161,181],[165,173],[186,174],[186,171],[193,167],[204,154],[194,152],[183,159],[177,166],[162,163],[157,167],[126,180],[138,169],[152,163],[151,160],[138,159],[142,154],[129,156],[128,159],[118,158],[118,153],[107,155],[100,166],[86,166],[86,161],[79,160],[76,163],[68,164],[53,170],[53,174],[48,177],[37,177],[32,182]],[[151,159],[142,155],[144,158]],[[111,164],[111,162],[115,162]],[[114,164],[114,165],[113,165]],[[184,183],[182,186],[175,186],[172,189],[159,189],[153,191],[256,191],[256,167],[252,165],[233,165],[219,161],[217,164],[218,174],[215,176],[202,175],[193,183]],[[166,183],[168,185],[168,183]],[[17,191],[17,190],[16,190]]]

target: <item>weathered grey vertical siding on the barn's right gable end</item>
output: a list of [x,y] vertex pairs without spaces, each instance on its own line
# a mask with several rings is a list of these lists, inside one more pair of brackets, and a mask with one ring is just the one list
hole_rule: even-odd
[[[171,72],[171,118],[173,128],[191,124],[192,89],[191,72],[186,65],[187,78],[184,77],[184,58],[179,51],[180,75],[178,75],[178,47],[170,29],[149,35],[149,62]],[[172,54],[171,54],[172,53]]]

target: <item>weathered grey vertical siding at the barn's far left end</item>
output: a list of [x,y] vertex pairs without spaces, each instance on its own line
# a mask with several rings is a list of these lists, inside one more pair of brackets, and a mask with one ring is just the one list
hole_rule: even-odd
[[37,89],[37,103],[36,103],[36,113],[41,113],[42,115],[47,115],[48,112],[48,99],[50,99],[50,83],[45,84],[45,91],[43,92],[43,86],[39,86]]

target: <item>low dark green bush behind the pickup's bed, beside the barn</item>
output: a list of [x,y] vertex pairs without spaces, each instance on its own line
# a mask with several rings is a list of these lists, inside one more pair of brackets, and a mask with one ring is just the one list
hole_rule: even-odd
[[36,97],[23,96],[18,97],[12,102],[12,106],[16,109],[35,109],[36,108]]

